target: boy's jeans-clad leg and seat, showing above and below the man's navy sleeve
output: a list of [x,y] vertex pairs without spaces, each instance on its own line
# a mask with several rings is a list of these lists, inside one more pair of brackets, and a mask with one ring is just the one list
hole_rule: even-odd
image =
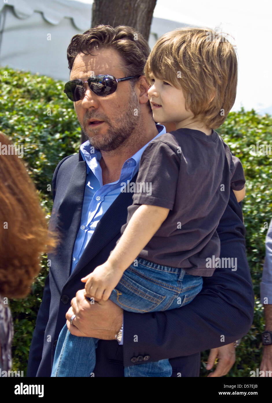
[[[202,277],[181,268],[137,258],[138,266],[124,272],[110,299],[126,311],[156,312],[187,305],[202,289]],[[125,367],[125,377],[168,377],[168,359]]]

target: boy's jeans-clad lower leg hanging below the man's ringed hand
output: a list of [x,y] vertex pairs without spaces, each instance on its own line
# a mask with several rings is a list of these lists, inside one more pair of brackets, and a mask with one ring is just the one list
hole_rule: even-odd
[[91,376],[97,343],[92,337],[74,336],[65,325],[57,341],[51,376]]

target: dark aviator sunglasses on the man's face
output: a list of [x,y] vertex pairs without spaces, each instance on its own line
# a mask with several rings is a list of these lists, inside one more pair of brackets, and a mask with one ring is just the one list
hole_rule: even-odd
[[138,78],[138,76],[129,76],[129,77],[123,77],[123,78],[115,78],[110,75],[97,75],[94,77],[88,78],[87,81],[82,81],[82,80],[72,80],[68,81],[64,85],[64,91],[67,97],[74,102],[83,100],[85,96],[85,91],[86,88],[84,88],[83,84],[88,83],[90,90],[95,93],[96,95],[99,95],[101,97],[105,97],[107,95],[110,95],[114,93],[117,90],[117,84],[120,81],[125,81],[125,80],[130,80],[132,78]]

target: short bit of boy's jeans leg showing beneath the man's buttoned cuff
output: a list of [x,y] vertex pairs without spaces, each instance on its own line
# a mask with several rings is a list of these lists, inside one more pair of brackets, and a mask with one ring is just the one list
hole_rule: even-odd
[[168,377],[172,366],[168,359],[125,367],[125,377]]

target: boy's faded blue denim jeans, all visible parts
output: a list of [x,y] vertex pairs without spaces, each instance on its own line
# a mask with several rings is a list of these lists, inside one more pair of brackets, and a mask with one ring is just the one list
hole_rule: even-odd
[[[135,263],[136,264],[136,263]],[[125,270],[110,300],[125,311],[156,312],[191,302],[202,289],[202,277],[177,267],[163,266],[142,258]],[[57,341],[51,376],[94,376],[98,339],[73,336],[65,325]],[[168,359],[125,367],[126,377],[172,375]]]

